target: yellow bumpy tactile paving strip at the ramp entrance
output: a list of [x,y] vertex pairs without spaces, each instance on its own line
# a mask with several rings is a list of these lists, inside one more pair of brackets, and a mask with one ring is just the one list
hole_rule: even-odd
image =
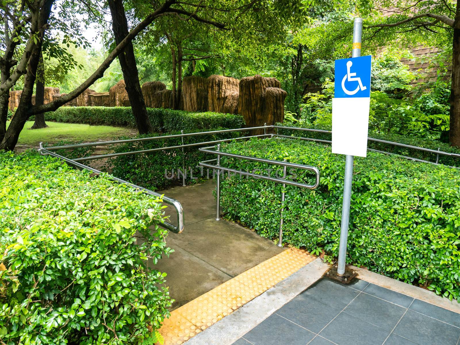
[[305,250],[288,248],[172,311],[159,329],[164,345],[183,344],[313,259]]

